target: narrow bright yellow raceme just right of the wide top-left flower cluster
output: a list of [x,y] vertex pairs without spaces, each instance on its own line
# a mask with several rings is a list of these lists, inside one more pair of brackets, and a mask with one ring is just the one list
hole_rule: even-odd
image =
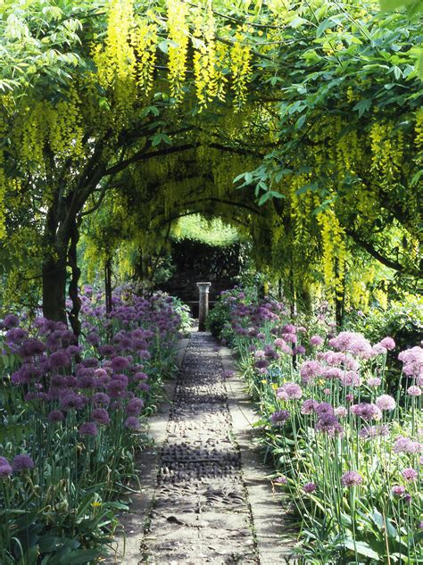
[[168,0],[170,96],[180,101],[187,73],[188,6],[180,0]]

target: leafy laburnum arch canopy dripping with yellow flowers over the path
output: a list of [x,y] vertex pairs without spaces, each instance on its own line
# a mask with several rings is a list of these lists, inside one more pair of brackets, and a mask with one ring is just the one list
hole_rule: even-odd
[[47,317],[66,320],[70,268],[78,331],[79,229],[100,213],[103,246],[146,245],[178,207],[237,204],[262,264],[338,301],[357,246],[416,277],[419,22],[390,31],[365,2],[71,4],[1,8],[2,256],[9,285],[40,278]]

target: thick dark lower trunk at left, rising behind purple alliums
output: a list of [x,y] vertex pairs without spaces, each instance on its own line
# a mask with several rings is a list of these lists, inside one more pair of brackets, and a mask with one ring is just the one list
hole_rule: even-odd
[[43,264],[43,314],[49,320],[66,320],[66,250]]

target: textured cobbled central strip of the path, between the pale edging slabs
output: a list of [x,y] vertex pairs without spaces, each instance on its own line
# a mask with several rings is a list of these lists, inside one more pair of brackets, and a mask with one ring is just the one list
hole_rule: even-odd
[[160,453],[147,563],[258,563],[219,348],[193,334]]

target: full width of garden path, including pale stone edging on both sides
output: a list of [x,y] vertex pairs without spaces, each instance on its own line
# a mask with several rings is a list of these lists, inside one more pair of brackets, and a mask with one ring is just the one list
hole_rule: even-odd
[[222,377],[235,370],[232,353],[197,332],[179,358],[166,391],[173,402],[150,419],[154,447],[138,461],[143,493],[121,517],[125,540],[107,562],[294,562],[289,517],[253,447],[253,405],[235,373]]

